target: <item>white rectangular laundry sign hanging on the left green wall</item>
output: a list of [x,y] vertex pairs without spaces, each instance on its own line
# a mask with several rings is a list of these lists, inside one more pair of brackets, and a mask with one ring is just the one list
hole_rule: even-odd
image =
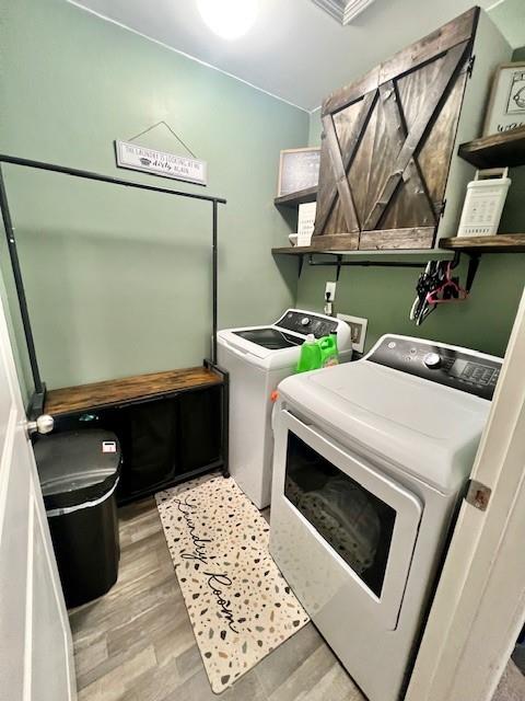
[[206,185],[208,182],[206,161],[158,151],[127,141],[115,141],[115,152],[119,168],[182,180],[195,185]]

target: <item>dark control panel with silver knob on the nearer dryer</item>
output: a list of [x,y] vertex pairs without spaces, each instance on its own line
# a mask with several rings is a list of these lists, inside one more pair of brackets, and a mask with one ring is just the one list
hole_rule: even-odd
[[366,360],[491,400],[502,360],[423,338],[384,336]]

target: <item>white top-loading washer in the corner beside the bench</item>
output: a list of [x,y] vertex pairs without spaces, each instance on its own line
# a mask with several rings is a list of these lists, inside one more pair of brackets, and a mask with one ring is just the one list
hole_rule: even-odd
[[348,324],[302,309],[288,309],[270,325],[218,334],[219,365],[230,374],[230,472],[258,508],[268,506],[271,494],[271,393],[294,372],[308,333],[337,334],[340,359],[351,359]]

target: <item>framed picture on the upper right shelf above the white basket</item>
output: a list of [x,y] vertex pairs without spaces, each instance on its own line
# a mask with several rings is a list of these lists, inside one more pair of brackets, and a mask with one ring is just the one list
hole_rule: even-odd
[[485,117],[483,136],[525,126],[525,62],[498,66]]

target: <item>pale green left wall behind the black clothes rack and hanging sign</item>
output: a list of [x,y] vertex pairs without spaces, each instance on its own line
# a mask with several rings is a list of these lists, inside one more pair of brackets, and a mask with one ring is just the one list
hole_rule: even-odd
[[[295,265],[269,250],[290,231],[272,204],[279,151],[307,141],[305,112],[63,0],[8,2],[0,20],[0,151],[225,197],[220,325],[293,303]],[[208,161],[206,189],[116,169],[113,140],[160,119]],[[139,142],[184,153],[167,130]],[[211,205],[4,170],[48,387],[201,363]]]

